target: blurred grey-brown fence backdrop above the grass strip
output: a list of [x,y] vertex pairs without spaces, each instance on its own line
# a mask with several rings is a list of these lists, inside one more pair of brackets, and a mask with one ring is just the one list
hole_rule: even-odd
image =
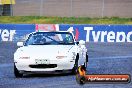
[[132,0],[15,0],[0,5],[0,15],[132,17]]

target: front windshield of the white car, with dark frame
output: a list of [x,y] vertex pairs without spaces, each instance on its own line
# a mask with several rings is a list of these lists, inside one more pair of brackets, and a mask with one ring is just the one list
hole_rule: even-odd
[[73,45],[74,39],[68,32],[36,32],[30,34],[25,45]]

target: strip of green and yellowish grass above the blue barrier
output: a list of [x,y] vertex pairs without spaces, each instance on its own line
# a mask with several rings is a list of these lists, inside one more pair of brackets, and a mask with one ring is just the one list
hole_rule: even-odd
[[132,24],[132,18],[0,16],[0,23],[21,24]]

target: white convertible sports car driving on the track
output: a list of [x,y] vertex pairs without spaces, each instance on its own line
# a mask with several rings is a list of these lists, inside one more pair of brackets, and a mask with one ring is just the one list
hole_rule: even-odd
[[85,41],[75,42],[70,32],[33,32],[25,43],[18,42],[14,53],[14,74],[75,72],[79,65],[87,67]]

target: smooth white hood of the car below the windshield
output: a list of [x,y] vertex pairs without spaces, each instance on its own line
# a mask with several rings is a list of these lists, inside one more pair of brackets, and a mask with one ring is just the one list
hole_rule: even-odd
[[57,55],[67,56],[71,52],[75,52],[75,45],[30,45],[19,48],[19,53],[24,53],[33,57],[54,57]]

